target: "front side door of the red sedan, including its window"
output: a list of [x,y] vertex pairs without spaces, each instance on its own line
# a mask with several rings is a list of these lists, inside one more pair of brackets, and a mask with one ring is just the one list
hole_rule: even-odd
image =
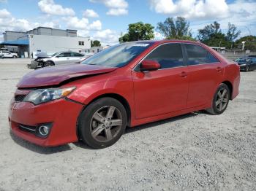
[[145,60],[157,61],[161,69],[132,71],[135,117],[157,116],[187,108],[187,66],[179,43],[161,44]]

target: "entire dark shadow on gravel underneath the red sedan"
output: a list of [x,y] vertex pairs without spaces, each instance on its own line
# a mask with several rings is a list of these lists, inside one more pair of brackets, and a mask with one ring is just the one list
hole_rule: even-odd
[[[162,125],[162,124],[165,124],[167,122],[175,122],[176,120],[183,120],[183,119],[188,118],[188,117],[195,117],[198,114],[204,114],[204,113],[206,113],[206,112],[204,112],[204,111],[192,112],[192,113],[189,113],[189,114],[180,115],[178,117],[171,117],[171,118],[168,118],[166,120],[160,120],[160,121],[157,121],[157,122],[150,122],[150,123],[147,123],[145,125],[138,125],[138,126],[135,126],[133,128],[127,127],[126,130],[125,130],[125,134],[126,133],[133,133],[136,130],[144,130],[146,128],[153,128],[154,126]],[[15,141],[15,143],[20,145],[21,147],[24,147],[26,149],[29,149],[29,150],[33,151],[33,152],[37,152],[37,153],[43,154],[43,155],[50,155],[50,154],[54,154],[54,153],[58,153],[58,152],[66,152],[66,151],[72,150],[72,148],[70,147],[69,144],[64,144],[64,145],[61,145],[61,146],[58,146],[58,147],[42,147],[42,146],[39,146],[37,144],[33,144],[29,141],[26,141],[24,139],[19,138],[18,136],[15,136],[15,134],[12,133],[12,130],[10,130],[10,136],[11,136],[12,140]],[[83,142],[80,142],[80,141],[72,143],[72,144],[74,144],[76,147],[80,147],[82,149],[92,149],[91,147],[89,147],[86,144],[83,144]]]

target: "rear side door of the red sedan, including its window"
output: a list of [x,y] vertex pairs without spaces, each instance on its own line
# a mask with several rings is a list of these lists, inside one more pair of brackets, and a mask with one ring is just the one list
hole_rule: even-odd
[[222,82],[224,66],[198,44],[184,44],[187,54],[189,93],[188,108],[211,101],[217,85]]

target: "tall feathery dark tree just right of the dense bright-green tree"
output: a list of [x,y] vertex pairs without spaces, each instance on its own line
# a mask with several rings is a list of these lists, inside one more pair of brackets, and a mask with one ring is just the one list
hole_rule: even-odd
[[157,31],[165,36],[165,39],[195,40],[192,38],[189,22],[184,17],[177,17],[176,20],[167,17],[163,23],[157,23]]

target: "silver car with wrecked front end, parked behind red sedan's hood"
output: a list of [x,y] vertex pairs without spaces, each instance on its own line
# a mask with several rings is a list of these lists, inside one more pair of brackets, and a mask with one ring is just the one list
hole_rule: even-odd
[[78,63],[86,58],[79,52],[56,52],[53,55],[38,55],[34,61],[28,64],[29,69],[37,69],[38,67],[57,66],[61,64]]

